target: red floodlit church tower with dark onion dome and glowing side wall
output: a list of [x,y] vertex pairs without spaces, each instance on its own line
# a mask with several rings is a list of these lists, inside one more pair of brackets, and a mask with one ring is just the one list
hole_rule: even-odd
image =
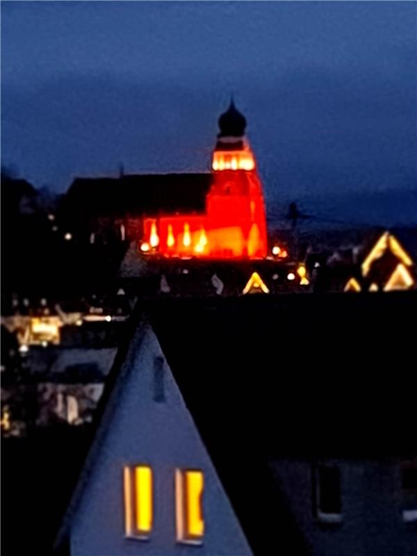
[[245,138],[245,117],[233,101],[219,126],[205,212],[146,218],[140,244],[144,254],[208,259],[267,255],[262,184]]

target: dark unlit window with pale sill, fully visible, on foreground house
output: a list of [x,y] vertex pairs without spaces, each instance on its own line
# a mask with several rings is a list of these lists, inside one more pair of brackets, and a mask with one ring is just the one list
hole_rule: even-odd
[[313,512],[319,521],[340,523],[341,472],[336,466],[313,468]]

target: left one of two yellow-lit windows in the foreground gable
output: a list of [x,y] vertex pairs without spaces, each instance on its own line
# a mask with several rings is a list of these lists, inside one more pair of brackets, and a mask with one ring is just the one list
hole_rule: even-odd
[[147,539],[154,514],[152,469],[147,465],[125,467],[123,480],[126,536]]

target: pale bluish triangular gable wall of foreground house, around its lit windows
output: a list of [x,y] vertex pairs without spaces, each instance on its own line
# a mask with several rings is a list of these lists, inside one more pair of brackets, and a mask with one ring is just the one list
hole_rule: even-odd
[[[247,555],[250,548],[161,347],[150,328],[129,348],[101,423],[102,434],[70,525],[71,554],[183,553],[176,539],[178,468],[204,473],[204,539],[199,552]],[[154,516],[147,541],[124,533],[124,468],[143,464],[154,477]]]

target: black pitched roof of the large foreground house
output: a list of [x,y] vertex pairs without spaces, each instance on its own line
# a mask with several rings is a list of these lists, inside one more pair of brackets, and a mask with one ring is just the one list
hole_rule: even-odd
[[[154,329],[254,553],[306,553],[270,470],[275,459],[416,455],[407,325],[416,300],[414,292],[165,300],[132,321],[133,350],[140,330]],[[104,425],[125,358],[126,346],[102,400]],[[84,476],[93,452],[89,461]]]

